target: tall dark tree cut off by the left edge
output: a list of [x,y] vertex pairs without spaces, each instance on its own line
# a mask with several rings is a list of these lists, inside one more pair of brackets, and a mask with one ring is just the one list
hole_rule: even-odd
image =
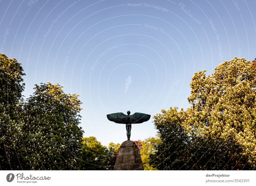
[[0,54],[0,169],[20,166],[20,99],[24,90],[22,66],[17,59]]

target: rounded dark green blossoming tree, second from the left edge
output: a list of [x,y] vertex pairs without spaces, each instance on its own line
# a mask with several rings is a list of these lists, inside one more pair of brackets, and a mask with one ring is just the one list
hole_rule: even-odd
[[25,170],[78,169],[81,101],[59,84],[41,83],[24,103],[21,150]]

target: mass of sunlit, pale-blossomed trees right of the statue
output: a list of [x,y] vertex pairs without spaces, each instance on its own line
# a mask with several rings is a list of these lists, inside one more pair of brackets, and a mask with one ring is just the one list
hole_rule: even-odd
[[171,107],[154,116],[163,142],[154,165],[175,170],[254,169],[255,70],[256,61],[234,58],[216,67],[212,76],[195,73],[187,111]]

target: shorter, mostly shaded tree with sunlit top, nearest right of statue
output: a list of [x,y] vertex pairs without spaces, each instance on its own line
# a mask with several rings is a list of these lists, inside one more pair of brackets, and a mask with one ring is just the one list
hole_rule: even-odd
[[182,128],[183,110],[178,108],[162,110],[163,114],[154,116],[154,123],[161,139],[156,144],[156,152],[149,155],[149,164],[158,170],[178,170],[183,162],[183,156],[191,145],[188,134]]

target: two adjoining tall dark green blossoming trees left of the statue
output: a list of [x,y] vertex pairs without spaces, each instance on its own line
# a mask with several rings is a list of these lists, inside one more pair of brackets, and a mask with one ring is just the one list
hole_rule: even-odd
[[41,83],[24,100],[23,75],[15,58],[0,54],[1,170],[78,169],[83,136],[78,95]]

